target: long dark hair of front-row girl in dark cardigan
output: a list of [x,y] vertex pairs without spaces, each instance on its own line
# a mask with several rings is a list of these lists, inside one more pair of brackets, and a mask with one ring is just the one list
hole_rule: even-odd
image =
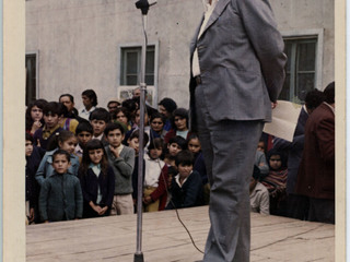
[[103,171],[104,176],[107,176],[108,158],[106,155],[106,151],[103,146],[103,143],[100,140],[93,139],[86,143],[86,146],[83,151],[83,158],[82,158],[81,164],[79,166],[79,176],[80,177],[85,176],[88,174],[89,165],[91,164],[89,151],[93,151],[93,150],[102,150],[103,151],[103,157],[100,163],[101,170]]

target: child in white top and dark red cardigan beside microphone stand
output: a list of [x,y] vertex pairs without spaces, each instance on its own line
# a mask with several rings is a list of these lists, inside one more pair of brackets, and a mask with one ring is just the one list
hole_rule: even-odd
[[144,158],[143,204],[145,212],[162,211],[166,204],[167,166],[160,159],[163,140],[154,139]]

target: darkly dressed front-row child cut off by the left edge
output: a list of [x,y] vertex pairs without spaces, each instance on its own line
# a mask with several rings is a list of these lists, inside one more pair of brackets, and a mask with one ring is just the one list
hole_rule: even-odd
[[25,133],[25,213],[27,223],[38,222],[38,184],[35,180],[35,172],[40,164],[45,151],[33,145],[33,136]]

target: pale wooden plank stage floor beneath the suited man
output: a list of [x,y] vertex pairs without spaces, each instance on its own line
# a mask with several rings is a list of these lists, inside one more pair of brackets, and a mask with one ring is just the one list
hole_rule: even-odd
[[[203,250],[208,207],[179,215]],[[136,215],[32,225],[26,227],[26,262],[133,262]],[[143,214],[145,262],[192,262],[202,258],[174,211]],[[335,261],[335,226],[252,213],[252,262]]]

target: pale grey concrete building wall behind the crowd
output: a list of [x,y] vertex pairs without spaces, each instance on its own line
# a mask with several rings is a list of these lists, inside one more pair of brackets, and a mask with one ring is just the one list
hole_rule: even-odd
[[[56,100],[93,88],[106,106],[118,88],[118,46],[142,45],[136,0],[28,0],[26,51],[38,51],[39,97]],[[271,0],[281,32],[324,28],[323,83],[334,80],[334,1]],[[201,0],[159,0],[148,15],[149,43],[159,41],[159,99],[188,106],[189,41]],[[324,86],[325,84],[323,84]]]

